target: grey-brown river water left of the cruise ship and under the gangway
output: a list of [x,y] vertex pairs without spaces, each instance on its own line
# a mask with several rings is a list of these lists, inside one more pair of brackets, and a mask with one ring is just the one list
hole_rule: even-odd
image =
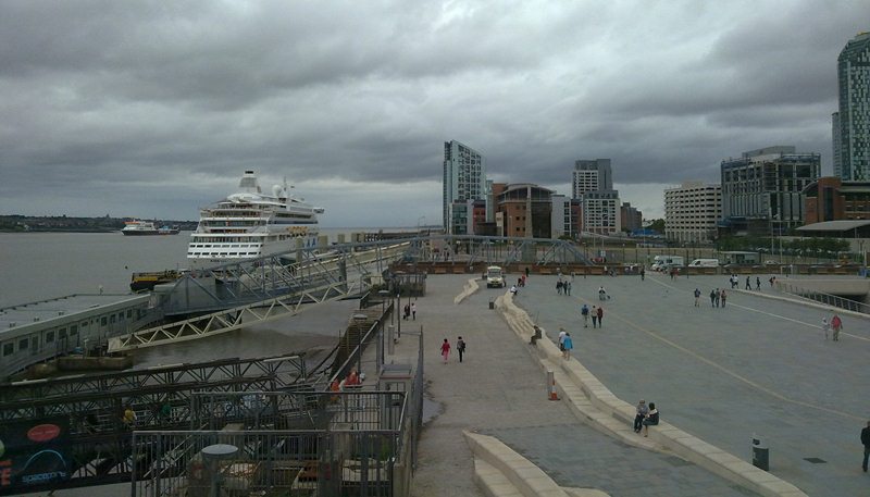
[[[377,228],[321,228],[338,234]],[[389,229],[385,229],[389,231]],[[120,233],[0,233],[0,308],[72,294],[129,293],[130,274],[187,268],[189,232],[174,236]],[[330,302],[327,310],[251,325],[201,340],[139,350],[137,368],[220,358],[253,358],[330,350],[358,301]],[[315,360],[320,353],[311,353]]]

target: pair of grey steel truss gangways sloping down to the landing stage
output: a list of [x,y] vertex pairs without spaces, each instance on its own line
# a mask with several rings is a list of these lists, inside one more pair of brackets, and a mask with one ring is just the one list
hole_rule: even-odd
[[[185,275],[157,287],[156,300],[175,322],[109,339],[109,351],[186,341],[217,335],[278,318],[312,306],[361,295],[390,262],[403,257],[410,241],[339,246],[330,254],[300,251],[298,262],[282,254],[225,264]],[[285,254],[286,256],[286,254]]]

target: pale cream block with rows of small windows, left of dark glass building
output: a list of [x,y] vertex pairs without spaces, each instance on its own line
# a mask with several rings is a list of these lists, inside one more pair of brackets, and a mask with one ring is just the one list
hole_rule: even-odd
[[722,218],[722,187],[685,182],[664,190],[664,237],[684,244],[705,244],[716,238]]

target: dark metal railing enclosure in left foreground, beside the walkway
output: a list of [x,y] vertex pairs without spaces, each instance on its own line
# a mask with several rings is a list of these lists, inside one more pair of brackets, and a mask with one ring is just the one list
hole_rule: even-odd
[[130,495],[408,495],[417,397],[422,388],[199,394],[192,412],[224,428],[134,432]]

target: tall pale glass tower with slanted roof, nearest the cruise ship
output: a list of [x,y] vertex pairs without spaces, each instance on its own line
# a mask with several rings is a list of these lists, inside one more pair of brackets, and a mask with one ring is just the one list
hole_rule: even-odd
[[[444,229],[468,225],[469,202],[486,200],[486,158],[459,141],[444,142]],[[453,212],[457,210],[457,212]]]

